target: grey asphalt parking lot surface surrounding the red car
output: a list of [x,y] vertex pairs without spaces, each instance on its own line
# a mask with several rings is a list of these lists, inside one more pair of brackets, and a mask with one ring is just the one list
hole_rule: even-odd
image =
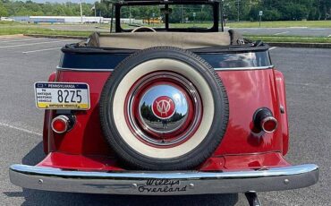
[[[74,39],[0,37],[0,204],[1,205],[248,205],[242,194],[124,196],[55,193],[12,185],[8,167],[35,165],[45,155],[43,111],[34,102],[33,83],[55,71],[64,44]],[[316,163],[318,185],[293,191],[258,193],[264,205],[329,205],[331,197],[331,49],[272,47],[273,64],[286,79],[294,165]]]

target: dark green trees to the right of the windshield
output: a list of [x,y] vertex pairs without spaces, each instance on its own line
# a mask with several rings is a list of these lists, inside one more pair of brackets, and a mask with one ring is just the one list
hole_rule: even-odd
[[331,20],[331,0],[225,0],[224,11],[230,21]]

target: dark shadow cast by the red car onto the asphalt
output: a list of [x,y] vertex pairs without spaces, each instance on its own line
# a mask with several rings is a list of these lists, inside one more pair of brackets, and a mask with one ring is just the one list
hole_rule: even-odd
[[[42,142],[31,150],[22,163],[35,165],[45,157]],[[238,194],[203,194],[182,196],[131,196],[90,193],[58,193],[23,189],[22,192],[4,192],[7,197],[23,197],[22,205],[235,205]]]

